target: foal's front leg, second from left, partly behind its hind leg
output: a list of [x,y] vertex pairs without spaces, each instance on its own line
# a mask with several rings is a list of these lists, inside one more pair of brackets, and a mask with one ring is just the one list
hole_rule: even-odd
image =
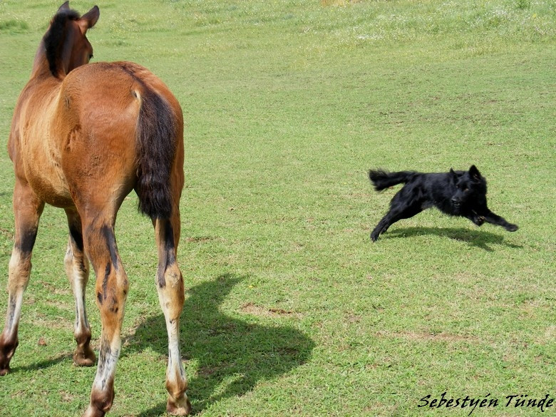
[[91,349],[91,326],[87,320],[85,308],[85,288],[89,279],[89,262],[83,252],[83,232],[81,230],[81,217],[77,210],[66,210],[69,226],[68,250],[66,251],[66,274],[73,289],[76,299],[76,323],[73,327],[73,336],[77,347],[73,353],[73,363],[77,366],[92,366],[95,363],[95,354]]

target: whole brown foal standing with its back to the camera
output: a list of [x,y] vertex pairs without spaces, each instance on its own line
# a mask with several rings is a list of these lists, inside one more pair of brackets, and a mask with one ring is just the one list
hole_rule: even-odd
[[130,62],[88,63],[93,48],[86,32],[98,16],[97,6],[83,16],[67,1],[58,9],[14,111],[8,149],[16,176],[15,242],[0,375],[8,374],[18,345],[39,217],[45,204],[61,207],[69,226],[66,273],[76,299],[76,365],[95,362],[85,308],[89,260],[102,319],[98,369],[83,416],[104,416],[110,409],[128,293],[114,225],[124,197],[135,190],[140,212],[153,221],[158,245],[155,284],[169,345],[167,408],[185,416],[190,403],[179,341],[184,287],[176,261],[184,181],[182,110],[146,68]]

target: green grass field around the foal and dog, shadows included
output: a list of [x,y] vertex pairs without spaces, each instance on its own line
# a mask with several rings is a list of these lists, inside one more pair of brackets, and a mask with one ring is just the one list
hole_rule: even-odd
[[[0,1],[3,143],[59,3]],[[71,2],[82,13],[93,4]],[[473,411],[419,407],[443,392],[498,398],[473,416],[544,415],[505,397],[556,401],[554,1],[97,4],[93,61],[147,66],[185,115],[181,332],[195,415]],[[428,210],[371,243],[394,190],[374,192],[369,168],[471,164],[491,209],[520,230]],[[0,179],[4,289],[14,221],[5,146]],[[155,244],[135,195],[117,227],[130,293],[110,415],[165,416]],[[96,369],[71,361],[67,236],[63,211],[47,207],[1,416],[79,416],[88,404]]]

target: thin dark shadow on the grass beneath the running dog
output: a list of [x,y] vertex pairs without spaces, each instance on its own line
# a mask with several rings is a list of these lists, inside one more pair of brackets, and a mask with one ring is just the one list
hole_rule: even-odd
[[508,247],[522,248],[519,244],[505,242],[504,237],[495,233],[486,232],[485,230],[470,230],[463,227],[403,227],[381,235],[381,239],[398,239],[399,237],[436,235],[439,237],[448,237],[448,239],[466,242],[474,247],[493,252],[490,244],[503,244]]

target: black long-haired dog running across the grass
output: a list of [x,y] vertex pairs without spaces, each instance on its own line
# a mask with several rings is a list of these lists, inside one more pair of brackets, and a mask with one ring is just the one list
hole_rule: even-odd
[[376,191],[396,184],[405,184],[393,196],[390,211],[371,233],[373,242],[376,242],[379,235],[386,232],[393,223],[413,217],[433,206],[448,215],[467,217],[478,226],[488,222],[502,226],[509,232],[518,230],[517,225],[506,222],[488,210],[486,180],[475,165],[468,171],[450,170],[449,173],[388,173],[384,170],[370,170],[369,178]]

